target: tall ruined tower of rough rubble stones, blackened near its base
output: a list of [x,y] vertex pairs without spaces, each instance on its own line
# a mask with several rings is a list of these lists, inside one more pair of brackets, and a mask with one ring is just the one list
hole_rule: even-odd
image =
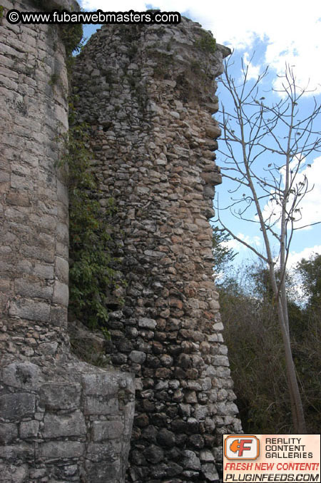
[[215,482],[222,434],[240,432],[208,221],[226,54],[188,19],[104,26],[74,73],[101,205],[113,197],[118,208],[127,287],[111,294],[109,351],[136,375],[128,482]]

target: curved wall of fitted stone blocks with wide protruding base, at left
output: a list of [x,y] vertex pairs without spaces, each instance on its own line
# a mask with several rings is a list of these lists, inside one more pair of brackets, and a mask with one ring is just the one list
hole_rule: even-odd
[[[2,0],[36,10],[32,1]],[[46,8],[76,8],[72,0]],[[56,136],[68,128],[57,26],[0,21],[1,482],[124,479],[133,376],[69,352],[68,195]]]

